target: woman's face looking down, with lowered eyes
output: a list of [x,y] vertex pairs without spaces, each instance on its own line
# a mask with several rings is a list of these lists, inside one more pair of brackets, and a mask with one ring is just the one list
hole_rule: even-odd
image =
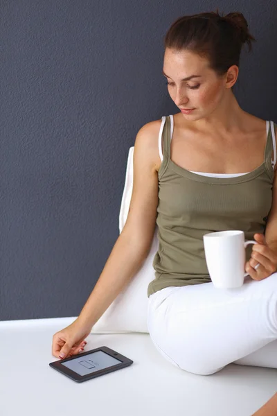
[[[226,93],[225,77],[220,78],[208,66],[208,60],[190,51],[166,48],[163,74],[168,80],[168,92],[179,109],[195,109],[183,113],[188,120],[198,120],[211,114]],[[197,76],[184,80],[191,76]]]

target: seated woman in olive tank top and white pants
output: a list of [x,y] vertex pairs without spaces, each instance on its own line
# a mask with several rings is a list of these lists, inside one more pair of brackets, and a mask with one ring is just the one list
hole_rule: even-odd
[[[213,374],[277,339],[275,125],[244,112],[232,91],[242,44],[250,51],[253,40],[238,12],[184,16],[170,27],[163,73],[181,112],[139,130],[127,222],[80,316],[53,336],[55,357],[82,351],[147,257],[156,219],[148,327],[168,361]],[[206,268],[203,235],[220,229],[258,242],[247,253],[249,279],[232,291],[214,288]]]

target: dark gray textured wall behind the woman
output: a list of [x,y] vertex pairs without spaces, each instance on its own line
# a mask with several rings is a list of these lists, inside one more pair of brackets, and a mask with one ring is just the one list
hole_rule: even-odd
[[6,0],[1,5],[0,319],[78,315],[118,237],[127,152],[178,111],[163,37],[239,10],[257,38],[235,94],[277,121],[275,1]]

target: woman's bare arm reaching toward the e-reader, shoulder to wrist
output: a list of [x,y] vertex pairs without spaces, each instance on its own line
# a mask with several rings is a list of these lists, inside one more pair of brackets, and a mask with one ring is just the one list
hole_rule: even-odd
[[141,268],[150,251],[158,204],[156,162],[159,155],[159,125],[159,121],[148,123],[136,136],[129,214],[96,286],[79,315],[78,321],[85,327],[93,327]]

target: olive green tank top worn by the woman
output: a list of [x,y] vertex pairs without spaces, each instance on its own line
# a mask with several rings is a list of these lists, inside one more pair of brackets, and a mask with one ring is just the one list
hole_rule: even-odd
[[[276,123],[272,125],[275,130]],[[264,162],[254,171],[236,177],[198,175],[175,164],[170,159],[170,116],[166,116],[161,139],[159,250],[153,260],[155,279],[148,286],[148,297],[168,286],[211,281],[204,255],[204,234],[240,229],[246,240],[253,240],[257,232],[265,234],[274,181],[271,155],[276,145],[271,128],[267,133]],[[247,261],[251,250],[249,245]]]

